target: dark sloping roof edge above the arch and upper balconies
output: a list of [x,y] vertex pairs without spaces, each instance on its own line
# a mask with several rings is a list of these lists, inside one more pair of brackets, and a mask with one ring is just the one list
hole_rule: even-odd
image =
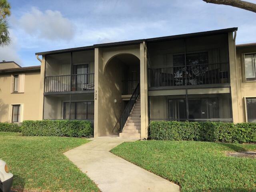
[[121,41],[121,42],[113,42],[113,43],[103,43],[103,44],[94,44],[93,46],[85,46],[85,47],[78,47],[78,48],[70,48],[70,49],[62,49],[62,50],[54,50],[54,51],[46,51],[46,52],[38,52],[36,55],[47,55],[47,54],[54,54],[54,53],[64,53],[64,52],[71,52],[71,51],[79,51],[79,50],[90,50],[97,47],[111,47],[111,46],[123,46],[123,45],[132,45],[132,44],[139,44],[143,41],[145,42],[154,42],[154,41],[162,41],[162,40],[170,40],[170,39],[182,39],[182,38],[191,38],[191,37],[198,37],[198,36],[208,36],[208,35],[216,35],[216,34],[224,34],[227,32],[233,32],[238,28],[227,28],[227,29],[220,29],[220,30],[213,30],[213,31],[205,31],[205,32],[197,32],[197,33],[188,33],[188,34],[181,34],[181,35],[173,35],[173,36],[165,36],[165,37],[157,37],[157,38],[149,38],[149,39],[139,39],[139,40],[131,40],[131,41]]

